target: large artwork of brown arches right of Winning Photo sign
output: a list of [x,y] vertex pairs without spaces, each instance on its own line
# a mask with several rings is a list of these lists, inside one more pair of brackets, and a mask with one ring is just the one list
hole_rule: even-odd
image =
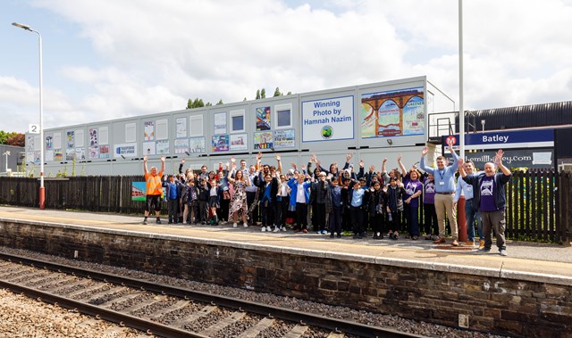
[[363,138],[425,134],[423,87],[361,95]]

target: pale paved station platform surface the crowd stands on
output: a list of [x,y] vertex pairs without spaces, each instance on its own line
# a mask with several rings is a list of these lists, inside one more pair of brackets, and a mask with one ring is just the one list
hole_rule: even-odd
[[353,239],[351,236],[330,238],[330,235],[311,232],[294,233],[290,229],[287,232],[261,232],[260,227],[233,228],[231,224],[216,227],[167,225],[164,218],[162,225],[156,225],[155,218],[149,218],[149,224],[144,226],[142,216],[9,206],[0,206],[0,220],[96,228],[120,232],[123,235],[186,237],[199,241],[229,243],[249,249],[259,247],[272,248],[272,251],[308,252],[315,257],[343,256],[344,260],[572,285],[572,247],[558,244],[508,241],[509,255],[502,257],[494,246],[494,239],[492,250],[489,253],[480,253],[476,251],[476,246],[452,247],[450,240],[447,244],[434,244],[422,238],[416,241],[406,238],[397,241],[387,238],[377,240],[371,236],[364,239]]

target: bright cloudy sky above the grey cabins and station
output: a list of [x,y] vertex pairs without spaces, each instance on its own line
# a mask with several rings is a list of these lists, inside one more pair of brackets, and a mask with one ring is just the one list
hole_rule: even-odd
[[[572,0],[465,1],[465,107],[572,99]],[[0,130],[426,75],[458,102],[456,0],[2,0]]]

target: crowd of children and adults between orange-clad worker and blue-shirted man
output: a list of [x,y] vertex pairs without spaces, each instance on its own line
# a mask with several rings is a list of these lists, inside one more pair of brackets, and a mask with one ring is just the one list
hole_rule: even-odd
[[[233,227],[260,224],[261,231],[286,231],[288,225],[295,232],[308,232],[308,224],[319,234],[341,237],[342,232],[352,232],[354,238],[363,238],[368,229],[374,239],[387,236],[398,239],[403,229],[416,240],[419,229],[419,208],[423,197],[425,215],[425,239],[438,234],[434,210],[434,182],[431,175],[423,176],[416,166],[406,169],[401,163],[398,169],[382,170],[374,166],[354,171],[349,164],[352,154],[346,155],[342,169],[332,163],[324,169],[315,155],[307,166],[292,163],[292,168],[282,172],[280,155],[274,155],[277,166],[262,164],[262,153],[257,163],[247,166],[246,161],[231,158],[223,168],[198,173],[190,169],[170,175],[164,180],[169,223],[219,225],[228,220]],[[312,169],[314,167],[314,169]],[[433,237],[434,239],[434,237]]]

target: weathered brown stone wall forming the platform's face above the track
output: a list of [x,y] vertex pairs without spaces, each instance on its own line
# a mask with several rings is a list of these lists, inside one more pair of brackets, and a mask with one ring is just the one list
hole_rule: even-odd
[[[0,245],[116,267],[530,337],[572,336],[572,286],[466,268],[252,244],[0,221]],[[459,272],[463,271],[463,272]],[[471,271],[469,271],[471,272]]]

